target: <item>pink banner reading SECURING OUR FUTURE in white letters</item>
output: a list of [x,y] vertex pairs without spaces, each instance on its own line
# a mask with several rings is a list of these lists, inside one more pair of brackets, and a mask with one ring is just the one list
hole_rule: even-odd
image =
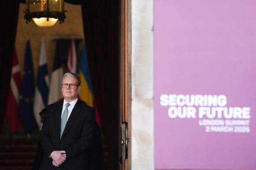
[[255,0],[154,0],[156,170],[256,170],[255,65]]

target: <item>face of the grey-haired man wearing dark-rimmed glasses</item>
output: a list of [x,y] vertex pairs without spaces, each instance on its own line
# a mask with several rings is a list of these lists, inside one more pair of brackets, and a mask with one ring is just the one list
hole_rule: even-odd
[[[62,83],[76,84],[76,79],[74,77],[65,77]],[[77,98],[80,89],[81,89],[81,86],[76,85],[75,88],[70,88],[70,85],[68,85],[67,88],[62,87],[61,92],[64,99],[67,102],[72,102],[74,99]]]

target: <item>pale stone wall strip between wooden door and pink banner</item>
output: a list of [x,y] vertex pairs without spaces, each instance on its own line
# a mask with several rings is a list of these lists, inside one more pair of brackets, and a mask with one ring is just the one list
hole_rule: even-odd
[[153,0],[132,0],[132,170],[154,170]]

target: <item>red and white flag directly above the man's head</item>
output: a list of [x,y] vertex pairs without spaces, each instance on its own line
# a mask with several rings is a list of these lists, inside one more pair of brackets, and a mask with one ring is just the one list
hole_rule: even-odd
[[67,72],[76,73],[76,66],[77,66],[76,47],[75,47],[75,41],[72,38],[70,42],[69,53],[68,53]]

